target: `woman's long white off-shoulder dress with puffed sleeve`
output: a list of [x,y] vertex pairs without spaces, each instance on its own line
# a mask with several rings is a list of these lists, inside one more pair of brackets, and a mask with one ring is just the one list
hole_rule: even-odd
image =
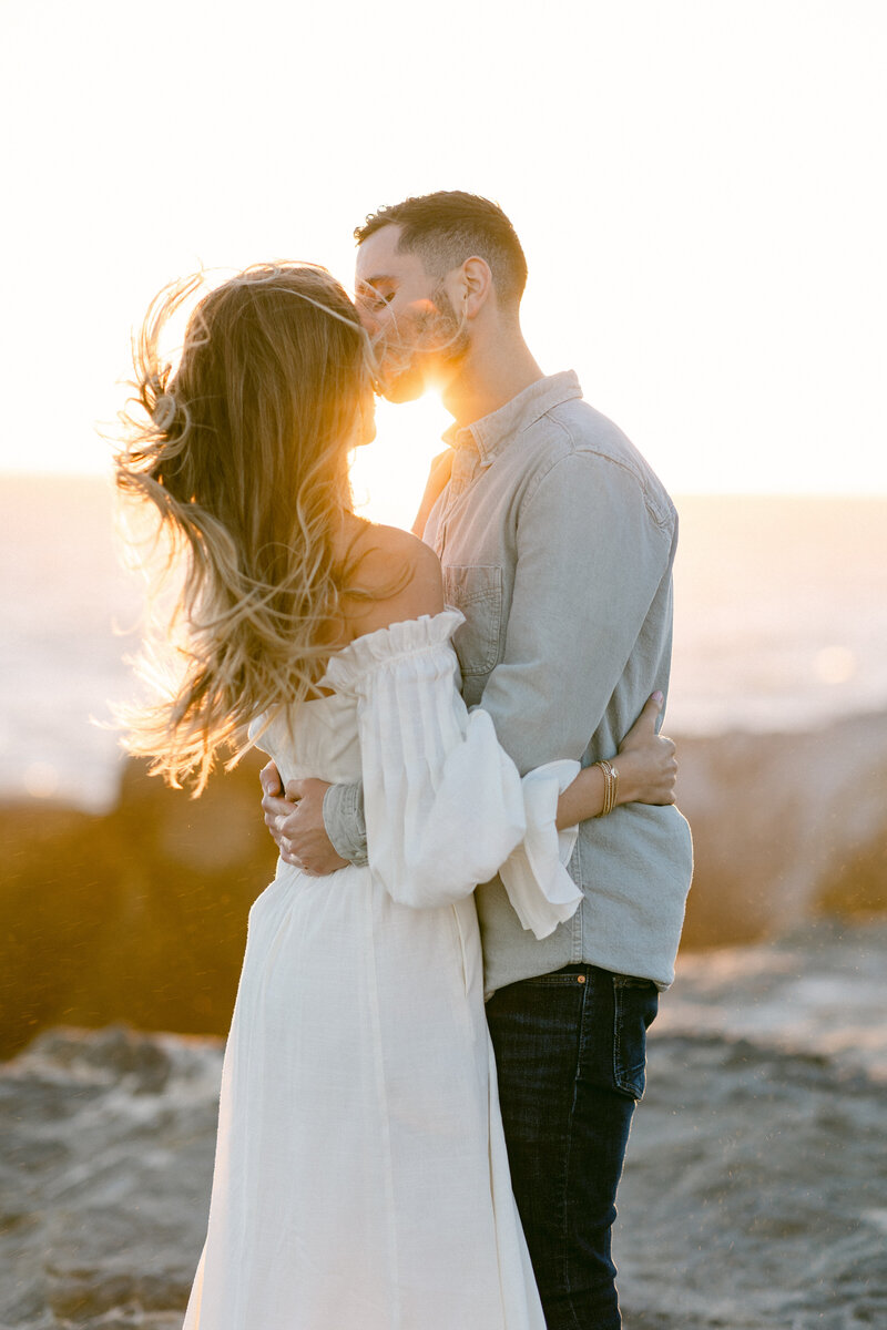
[[472,888],[505,864],[525,927],[569,918],[578,763],[520,779],[456,689],[460,622],[356,638],[261,739],[285,779],[363,778],[370,866],[281,862],[250,911],[185,1330],[544,1330]]

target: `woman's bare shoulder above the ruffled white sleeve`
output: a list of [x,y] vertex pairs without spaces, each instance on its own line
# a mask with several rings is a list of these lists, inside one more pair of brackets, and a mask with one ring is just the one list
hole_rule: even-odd
[[344,593],[351,636],[443,610],[440,560],[411,532],[366,523],[351,545],[351,559],[354,571]]

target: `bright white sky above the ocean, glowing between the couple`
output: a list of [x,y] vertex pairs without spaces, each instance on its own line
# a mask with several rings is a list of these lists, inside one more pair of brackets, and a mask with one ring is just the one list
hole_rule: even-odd
[[[468,189],[524,329],[669,488],[887,492],[883,0],[0,0],[0,468],[101,471],[129,327],[199,262],[309,258]],[[356,481],[408,520],[447,416]]]

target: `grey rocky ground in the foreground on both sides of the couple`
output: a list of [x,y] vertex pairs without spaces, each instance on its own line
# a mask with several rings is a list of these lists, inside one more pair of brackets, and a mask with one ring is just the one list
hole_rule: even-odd
[[[887,936],[859,932],[832,939],[826,930],[822,940],[814,930],[793,955],[793,972],[809,974],[824,954],[838,1012],[842,992],[852,992],[847,956],[864,948],[879,998],[860,995],[847,1016],[848,1055],[854,1032],[862,1047],[876,1028],[884,996]],[[717,954],[692,958],[652,1028],[614,1241],[626,1330],[883,1323],[883,1083],[862,1064],[848,1076],[836,1049],[777,1047],[785,1003],[766,984],[755,1037],[674,1032],[698,1001],[741,1024],[762,978],[786,972],[783,948],[770,970],[769,956],[761,947],[745,952],[745,966],[739,952],[725,966]],[[737,991],[743,1000],[731,1007]],[[791,1015],[782,1011],[789,1035]],[[130,1033],[142,1059],[144,1043],[154,1043],[168,1068],[162,1089],[138,1093],[120,1036],[51,1031],[0,1068],[0,1088],[12,1084],[23,1107],[40,1085],[56,1096],[33,1117],[4,1120],[4,1192],[29,1213],[0,1232],[3,1330],[181,1327],[209,1205],[221,1044]],[[85,1080],[97,1093],[82,1096]],[[32,1172],[32,1146],[53,1138],[63,1148]]]

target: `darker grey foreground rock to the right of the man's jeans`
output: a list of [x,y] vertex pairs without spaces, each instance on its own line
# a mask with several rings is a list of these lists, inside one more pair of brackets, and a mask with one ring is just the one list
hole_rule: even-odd
[[879,1323],[883,1085],[737,1052],[650,1037],[614,1237],[626,1326]]

